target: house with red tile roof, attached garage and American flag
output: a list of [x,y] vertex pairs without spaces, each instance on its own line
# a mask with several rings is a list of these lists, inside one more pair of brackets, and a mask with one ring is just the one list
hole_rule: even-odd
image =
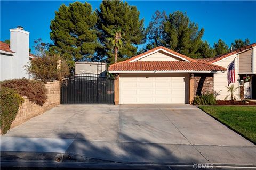
[[[196,95],[220,91],[224,99],[228,86],[227,67],[235,60],[236,82],[244,75],[251,81],[239,86],[237,99],[255,88],[256,43],[206,60],[195,60],[165,47],[157,47],[128,60],[109,66],[115,74],[115,104],[183,104],[192,103]],[[249,85],[250,84],[250,85]],[[245,89],[245,90],[243,90]],[[255,90],[255,89],[254,89]]]

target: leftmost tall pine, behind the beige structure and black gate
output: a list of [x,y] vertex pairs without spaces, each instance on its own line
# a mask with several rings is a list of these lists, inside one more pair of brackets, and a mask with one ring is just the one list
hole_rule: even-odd
[[50,50],[61,53],[71,67],[75,61],[93,60],[100,44],[97,41],[97,15],[89,3],[74,2],[61,5],[51,21]]

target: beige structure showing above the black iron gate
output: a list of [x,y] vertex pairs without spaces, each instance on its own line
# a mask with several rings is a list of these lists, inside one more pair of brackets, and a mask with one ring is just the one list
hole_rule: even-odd
[[106,76],[107,63],[102,62],[76,62],[75,74],[95,74]]

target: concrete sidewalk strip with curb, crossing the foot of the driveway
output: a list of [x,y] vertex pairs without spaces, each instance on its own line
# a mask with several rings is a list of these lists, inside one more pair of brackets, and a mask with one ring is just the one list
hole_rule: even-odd
[[1,161],[256,167],[256,147],[1,137]]

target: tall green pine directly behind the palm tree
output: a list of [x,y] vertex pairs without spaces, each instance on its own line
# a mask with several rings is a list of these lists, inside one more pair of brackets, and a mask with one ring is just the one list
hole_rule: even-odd
[[135,6],[130,6],[122,1],[102,1],[99,10],[97,27],[101,32],[100,42],[103,44],[101,54],[106,54],[108,63],[114,63],[114,54],[111,53],[113,45],[108,41],[111,32],[115,28],[121,28],[123,46],[119,48],[119,60],[129,58],[136,54],[137,45],[145,42],[144,20],[139,19],[140,12]]

